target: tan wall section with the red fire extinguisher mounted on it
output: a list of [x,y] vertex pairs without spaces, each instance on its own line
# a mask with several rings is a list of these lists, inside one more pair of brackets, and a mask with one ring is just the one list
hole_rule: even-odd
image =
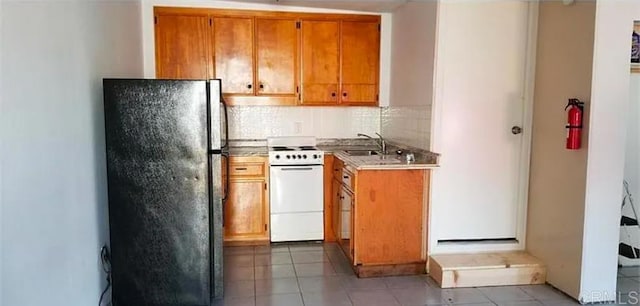
[[[579,297],[588,135],[565,148],[568,98],[591,109],[596,3],[543,1],[538,41],[527,211],[526,250],[547,267],[547,282]],[[591,128],[584,120],[584,131]]]

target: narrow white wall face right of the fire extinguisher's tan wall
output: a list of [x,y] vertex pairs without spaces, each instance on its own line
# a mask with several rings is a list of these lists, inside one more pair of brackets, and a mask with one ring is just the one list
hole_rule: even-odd
[[634,19],[640,20],[638,1],[597,2],[580,283],[583,302],[615,297]]

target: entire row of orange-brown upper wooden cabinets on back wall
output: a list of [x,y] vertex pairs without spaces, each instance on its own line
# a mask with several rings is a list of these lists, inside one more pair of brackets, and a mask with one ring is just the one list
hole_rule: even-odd
[[156,76],[230,105],[378,104],[380,17],[156,7]]

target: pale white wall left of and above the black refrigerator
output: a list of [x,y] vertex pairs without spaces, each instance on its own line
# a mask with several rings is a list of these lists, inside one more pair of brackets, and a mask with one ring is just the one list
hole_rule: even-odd
[[101,79],[142,76],[135,1],[2,1],[0,305],[96,305],[108,241]]

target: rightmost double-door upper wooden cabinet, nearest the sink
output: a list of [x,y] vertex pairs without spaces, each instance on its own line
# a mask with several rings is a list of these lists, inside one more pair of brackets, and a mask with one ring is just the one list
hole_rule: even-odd
[[302,21],[302,104],[378,105],[379,21]]

